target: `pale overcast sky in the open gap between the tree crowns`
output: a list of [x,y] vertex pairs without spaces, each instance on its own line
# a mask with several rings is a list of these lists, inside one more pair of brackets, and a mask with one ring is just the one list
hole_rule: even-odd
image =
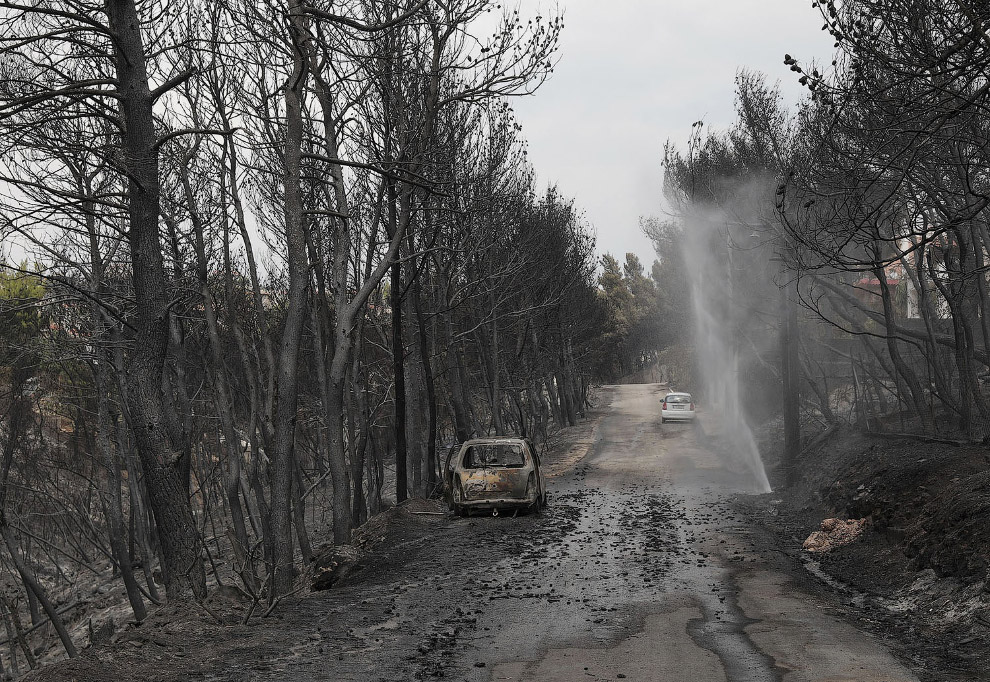
[[[523,2],[523,12],[537,3]],[[547,3],[540,3],[546,8]],[[563,50],[535,96],[513,105],[543,184],[574,197],[598,251],[647,269],[653,247],[639,217],[663,210],[664,142],[684,146],[691,123],[728,127],[741,68],[803,95],[784,53],[831,61],[832,40],[810,0],[559,0]]]

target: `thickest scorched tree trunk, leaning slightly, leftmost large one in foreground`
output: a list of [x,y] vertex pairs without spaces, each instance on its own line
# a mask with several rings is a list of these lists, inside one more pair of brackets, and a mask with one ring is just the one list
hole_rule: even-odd
[[169,288],[158,234],[161,215],[158,180],[158,138],[152,113],[153,96],[133,0],[107,0],[114,35],[115,66],[124,123],[123,157],[128,176],[128,243],[136,301],[136,328],[128,366],[131,426],[162,549],[165,591],[181,596],[186,586],[197,598],[206,596],[201,542],[193,519],[188,487],[183,485],[183,457],[169,437],[162,395],[169,334]]

